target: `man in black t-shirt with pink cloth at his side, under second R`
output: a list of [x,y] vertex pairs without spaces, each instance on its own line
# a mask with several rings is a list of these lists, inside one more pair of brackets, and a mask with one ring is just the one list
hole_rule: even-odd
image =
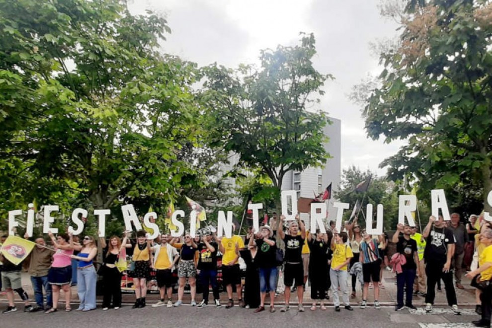
[[403,254],[406,259],[406,263],[402,265],[402,272],[397,273],[397,306],[395,311],[403,310],[403,292],[405,286],[407,287],[407,297],[405,299],[405,306],[409,309],[416,310],[412,305],[412,291],[413,281],[415,280],[415,273],[418,272],[418,252],[417,242],[410,238],[411,228],[409,225],[403,225],[401,223],[397,226],[397,232],[393,235],[392,242],[397,245],[397,252]]

